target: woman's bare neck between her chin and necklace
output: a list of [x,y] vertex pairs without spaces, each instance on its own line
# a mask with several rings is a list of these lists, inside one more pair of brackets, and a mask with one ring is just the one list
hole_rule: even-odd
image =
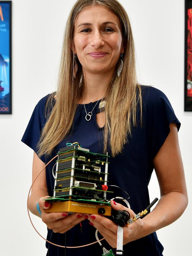
[[[110,74],[84,74],[85,86],[83,89],[84,103],[98,101],[103,98],[113,73]],[[79,101],[83,104],[83,98]]]

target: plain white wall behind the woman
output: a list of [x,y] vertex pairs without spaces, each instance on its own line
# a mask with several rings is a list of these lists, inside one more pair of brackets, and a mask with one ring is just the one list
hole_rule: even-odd
[[[186,173],[189,204],[183,216],[157,232],[164,256],[191,255],[191,127],[184,112],[184,0],[121,0],[131,20],[139,81],[162,90],[181,122],[180,149]],[[33,152],[20,142],[32,111],[44,95],[55,90],[67,15],[74,1],[12,1],[13,114],[0,116],[2,256],[45,255],[45,242],[27,216]],[[6,179],[4,178],[6,177]],[[159,197],[155,175],[151,199]],[[33,217],[38,231],[46,227]]]

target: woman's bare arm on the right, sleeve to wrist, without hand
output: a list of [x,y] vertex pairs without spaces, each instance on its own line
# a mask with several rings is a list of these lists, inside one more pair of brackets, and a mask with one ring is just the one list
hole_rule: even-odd
[[161,198],[154,210],[143,219],[150,233],[177,220],[188,204],[176,124],[170,124],[170,133],[154,157],[153,164]]

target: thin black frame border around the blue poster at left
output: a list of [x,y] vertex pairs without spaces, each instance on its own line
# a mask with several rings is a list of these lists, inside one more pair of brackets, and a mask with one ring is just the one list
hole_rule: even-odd
[[12,1],[0,1],[9,3],[9,112],[0,112],[1,115],[12,114]]

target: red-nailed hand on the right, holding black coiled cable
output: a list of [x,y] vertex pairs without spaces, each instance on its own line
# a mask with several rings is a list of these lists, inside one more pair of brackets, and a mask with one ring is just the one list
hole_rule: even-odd
[[[127,207],[111,201],[111,206],[114,210],[126,210],[130,213],[130,218],[134,217],[136,214]],[[105,218],[104,216],[98,214],[87,214],[89,216],[89,221],[91,225],[98,229],[99,233],[105,238],[105,240],[110,244],[112,248],[117,247],[117,225]],[[131,241],[139,239],[146,236],[146,231],[144,231],[144,222],[142,219],[136,220],[134,223],[123,227],[123,245]]]

